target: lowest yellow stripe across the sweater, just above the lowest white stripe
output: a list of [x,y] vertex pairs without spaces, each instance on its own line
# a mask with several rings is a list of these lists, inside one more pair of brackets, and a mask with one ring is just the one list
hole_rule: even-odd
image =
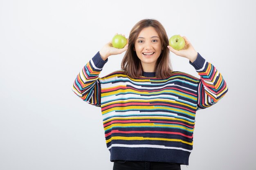
[[168,139],[168,138],[159,138],[159,137],[123,137],[123,136],[113,136],[110,139],[106,140],[106,143],[109,143],[111,140],[158,140],[158,141],[177,141],[184,144],[193,145],[192,142],[183,141],[181,139]]

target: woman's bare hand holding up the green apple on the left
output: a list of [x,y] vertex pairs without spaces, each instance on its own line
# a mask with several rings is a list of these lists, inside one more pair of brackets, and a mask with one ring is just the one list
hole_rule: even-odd
[[[123,35],[125,37],[125,35]],[[128,38],[127,39],[127,44],[124,46],[124,48],[122,49],[117,49],[115,47],[112,46],[112,41],[108,42],[107,44],[105,44],[102,49],[99,51],[101,58],[103,60],[107,60],[107,58],[110,55],[117,55],[117,54],[121,54],[124,51],[126,51],[128,49]]]

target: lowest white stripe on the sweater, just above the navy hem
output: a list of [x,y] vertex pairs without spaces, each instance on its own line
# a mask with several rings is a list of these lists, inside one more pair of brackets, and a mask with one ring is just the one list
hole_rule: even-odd
[[126,144],[112,144],[110,147],[108,147],[108,150],[112,147],[127,147],[127,148],[161,148],[161,149],[177,149],[177,150],[184,150],[187,152],[191,152],[191,150],[184,149],[184,148],[177,148],[177,147],[169,147],[169,146],[163,146],[163,145],[126,145]]

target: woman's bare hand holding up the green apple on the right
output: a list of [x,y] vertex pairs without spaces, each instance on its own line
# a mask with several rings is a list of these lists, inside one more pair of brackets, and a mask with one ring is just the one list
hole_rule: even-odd
[[198,56],[198,53],[195,51],[194,47],[189,42],[189,40],[185,36],[183,36],[183,38],[185,40],[185,46],[184,46],[184,48],[182,50],[175,50],[171,46],[167,46],[167,47],[174,54],[179,55],[181,57],[186,57],[191,62],[194,62],[196,57]]

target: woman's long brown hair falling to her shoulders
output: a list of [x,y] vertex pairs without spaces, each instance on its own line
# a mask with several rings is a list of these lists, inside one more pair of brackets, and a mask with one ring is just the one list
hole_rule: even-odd
[[161,44],[162,44],[162,52],[157,59],[155,65],[155,75],[157,78],[165,79],[171,75],[172,68],[171,68],[171,61],[169,57],[169,49],[167,46],[169,45],[168,36],[164,29],[164,26],[153,19],[144,19],[139,21],[135,26],[133,26],[132,30],[130,31],[129,35],[129,44],[128,49],[124,55],[124,58],[121,62],[121,69],[124,70],[124,73],[131,78],[139,77],[142,75],[143,68],[141,65],[141,61],[139,57],[137,57],[135,48],[135,41],[140,33],[140,31],[148,26],[152,26],[157,31]]

